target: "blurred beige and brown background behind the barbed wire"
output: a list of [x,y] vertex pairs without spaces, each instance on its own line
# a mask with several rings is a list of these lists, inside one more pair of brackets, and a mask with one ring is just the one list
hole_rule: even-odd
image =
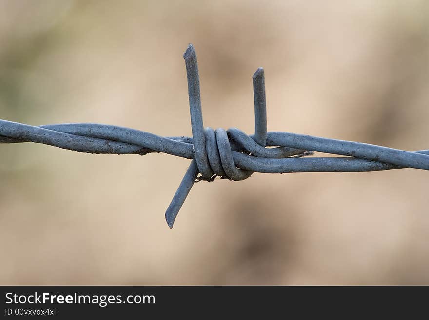
[[[206,126],[429,148],[429,5],[404,1],[0,2],[0,118],[191,135]],[[189,160],[0,145],[0,284],[429,284],[429,172],[255,173],[195,185]]]

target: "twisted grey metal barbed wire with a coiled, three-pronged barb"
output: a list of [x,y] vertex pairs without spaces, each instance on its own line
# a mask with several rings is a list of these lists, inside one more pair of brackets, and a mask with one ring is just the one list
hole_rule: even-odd
[[[264,70],[253,75],[255,133],[203,126],[198,65],[190,44],[183,55],[188,78],[192,137],[162,137],[113,125],[66,123],[43,126],[0,120],[0,143],[36,142],[108,154],[168,153],[192,159],[165,212],[170,228],[195,182],[216,177],[239,181],[253,172],[364,172],[401,168],[429,170],[429,150],[404,151],[360,142],[290,132],[267,132]],[[266,148],[275,147],[275,148]],[[346,157],[313,157],[314,151]],[[198,175],[200,174],[200,175]]]

